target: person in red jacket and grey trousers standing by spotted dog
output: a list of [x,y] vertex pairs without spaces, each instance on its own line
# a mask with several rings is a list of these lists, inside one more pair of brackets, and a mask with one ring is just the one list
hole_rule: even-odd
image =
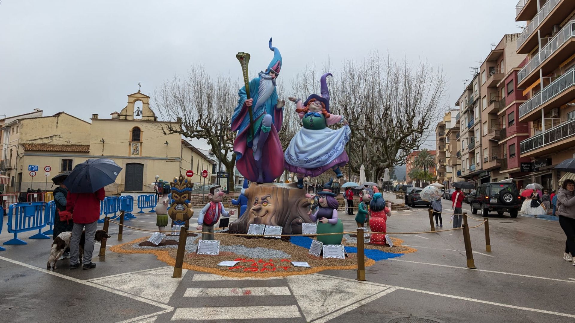
[[104,187],[95,191],[95,193],[72,193],[68,191],[66,197],[66,210],[72,213],[74,219],[74,229],[72,229],[72,238],[70,239],[70,269],[76,269],[80,266],[80,238],[82,231],[86,229],[84,243],[84,259],[82,269],[96,267],[92,262],[92,253],[94,252],[94,234],[98,228],[98,218],[100,217],[100,201],[104,201],[106,191]]

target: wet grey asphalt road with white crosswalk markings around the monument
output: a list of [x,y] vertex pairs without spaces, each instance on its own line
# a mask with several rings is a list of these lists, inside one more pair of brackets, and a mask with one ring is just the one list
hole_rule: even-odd
[[[451,212],[449,201],[443,206]],[[469,205],[463,210],[471,214]],[[136,216],[129,225],[155,228],[154,215]],[[355,228],[353,216],[340,217],[346,230]],[[449,219],[444,214],[443,229],[451,228]],[[32,234],[24,233],[19,236],[28,245],[0,251],[0,317],[6,322],[575,321],[575,266],[562,259],[565,236],[558,222],[494,213],[489,225],[490,253],[483,226],[470,232],[477,269],[466,268],[461,230],[402,235],[396,237],[417,252],[367,267],[367,282],[356,282],[355,271],[264,280],[187,271],[174,279],[172,268],[154,255],[113,252],[95,257],[94,270],[69,270],[62,260],[48,272],[51,240],[31,240]],[[388,232],[429,229],[423,206],[394,212],[388,220]],[[109,244],[116,244],[117,226],[110,234]],[[147,234],[125,230],[124,241]],[[4,229],[0,241],[10,237]]]

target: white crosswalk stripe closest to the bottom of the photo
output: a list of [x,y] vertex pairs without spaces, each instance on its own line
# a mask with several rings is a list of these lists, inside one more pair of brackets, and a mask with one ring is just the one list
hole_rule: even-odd
[[294,318],[301,317],[296,305],[288,306],[222,306],[222,307],[180,307],[174,312],[172,321],[179,320],[245,320],[249,318]]

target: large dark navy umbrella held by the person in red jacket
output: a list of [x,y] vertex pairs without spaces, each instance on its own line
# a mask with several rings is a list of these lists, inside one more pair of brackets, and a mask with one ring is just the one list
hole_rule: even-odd
[[112,159],[88,159],[74,167],[64,180],[64,185],[72,193],[94,193],[116,181],[122,167]]

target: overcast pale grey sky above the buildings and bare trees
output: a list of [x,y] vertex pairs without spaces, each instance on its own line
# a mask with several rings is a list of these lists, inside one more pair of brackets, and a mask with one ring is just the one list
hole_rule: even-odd
[[[0,115],[34,108],[88,120],[126,105],[127,94],[153,94],[196,63],[234,77],[235,54],[250,70],[283,56],[288,81],[315,61],[336,70],[371,50],[425,58],[448,79],[453,107],[491,44],[516,28],[517,0],[402,1],[41,1],[0,4]],[[336,71],[334,71],[336,72]],[[289,82],[289,81],[288,81]]]

